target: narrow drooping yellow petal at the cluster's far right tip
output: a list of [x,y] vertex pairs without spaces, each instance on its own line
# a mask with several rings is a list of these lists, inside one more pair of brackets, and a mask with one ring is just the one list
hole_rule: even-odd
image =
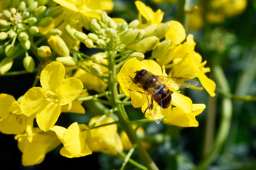
[[206,89],[206,91],[208,92],[208,94],[210,94],[210,96],[212,97],[215,96],[215,82],[206,77],[206,74],[203,74],[202,72],[199,72],[197,74],[197,77],[203,85],[203,88]]

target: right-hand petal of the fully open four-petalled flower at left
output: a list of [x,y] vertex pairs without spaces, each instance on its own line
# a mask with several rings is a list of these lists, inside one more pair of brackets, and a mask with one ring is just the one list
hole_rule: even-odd
[[75,77],[65,79],[57,89],[58,97],[60,99],[59,104],[63,106],[75,100],[75,98],[82,92],[82,88],[83,84],[80,79]]

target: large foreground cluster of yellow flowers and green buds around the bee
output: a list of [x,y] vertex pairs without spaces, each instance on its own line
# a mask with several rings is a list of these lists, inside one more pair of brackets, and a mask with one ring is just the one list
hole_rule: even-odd
[[[186,86],[182,80],[198,78],[208,94],[215,96],[215,83],[206,77],[210,68],[195,52],[193,35],[186,36],[178,21],[162,23],[164,12],[160,9],[154,12],[136,1],[139,18],[127,23],[107,15],[113,8],[110,0],[0,2],[1,74],[11,73],[14,59],[26,56],[26,71],[40,75],[18,101],[0,94],[0,131],[16,135],[24,166],[40,164],[46,153],[60,144],[60,154],[68,158],[93,152],[117,155],[140,142],[139,147],[150,147],[149,142],[138,139],[144,130],[140,124],[137,128],[131,125],[126,105],[142,107],[149,121],[197,127],[195,117],[206,106],[181,94],[180,88]],[[97,50],[87,54],[80,47]],[[167,108],[157,99],[152,99],[151,106],[154,89],[149,93],[134,81],[142,69],[159,77],[159,84],[170,90]],[[85,113],[83,101],[90,102],[88,108],[93,107],[97,115],[87,123],[78,120],[60,126],[61,113]],[[118,125],[123,130],[120,135]]]

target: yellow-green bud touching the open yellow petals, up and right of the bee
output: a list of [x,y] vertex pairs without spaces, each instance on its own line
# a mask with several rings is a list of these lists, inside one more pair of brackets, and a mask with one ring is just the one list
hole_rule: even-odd
[[160,42],[159,45],[157,45],[157,47],[153,50],[152,57],[161,58],[166,56],[166,52],[170,52],[172,49],[171,43],[172,43],[172,40],[170,39],[166,39]]

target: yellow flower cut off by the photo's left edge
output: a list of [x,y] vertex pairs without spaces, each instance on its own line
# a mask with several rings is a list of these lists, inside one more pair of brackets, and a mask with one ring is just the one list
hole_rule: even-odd
[[20,134],[26,128],[26,115],[21,113],[18,102],[9,94],[0,94],[0,131]]

